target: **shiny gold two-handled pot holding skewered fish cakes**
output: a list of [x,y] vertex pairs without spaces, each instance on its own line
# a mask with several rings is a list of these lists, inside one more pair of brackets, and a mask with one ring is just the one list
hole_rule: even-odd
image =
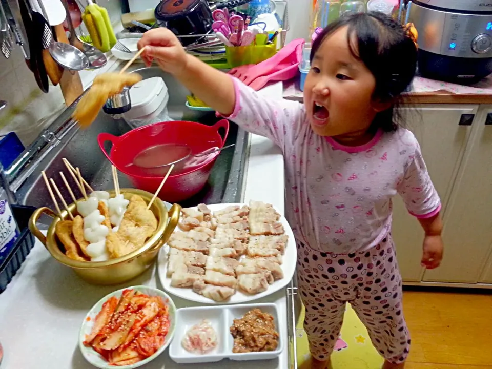
[[[139,195],[147,203],[150,202],[153,196],[149,192],[136,189],[121,189],[120,191],[128,200],[132,195]],[[109,191],[109,193],[111,197],[114,197],[114,191]],[[78,214],[75,203],[72,203],[69,206],[69,209],[74,216]],[[60,263],[72,268],[81,278],[93,284],[117,284],[133,279],[145,272],[152,265],[157,257],[159,249],[168,241],[178,224],[181,212],[181,207],[178,204],[174,204],[168,213],[166,205],[159,198],[156,198],[152,204],[151,210],[157,218],[157,230],[154,235],[149,238],[140,249],[120,258],[108,261],[78,261],[69,258],[61,251],[63,250],[63,246],[55,235],[55,227],[56,223],[59,221],[69,218],[66,210],[61,212],[60,219],[60,217],[49,208],[37,209],[29,220],[29,229],[39,241],[43,242],[51,256]],[[46,237],[36,226],[39,217],[43,214],[47,214],[54,218]]]

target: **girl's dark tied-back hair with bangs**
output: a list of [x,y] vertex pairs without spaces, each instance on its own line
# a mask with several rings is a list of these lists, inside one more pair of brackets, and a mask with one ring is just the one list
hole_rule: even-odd
[[393,18],[380,13],[342,16],[326,27],[311,49],[311,61],[323,41],[342,27],[348,27],[347,43],[354,57],[361,60],[376,79],[374,98],[391,101],[392,107],[376,115],[372,129],[395,131],[400,118],[401,93],[411,84],[417,69],[417,46],[412,36]]

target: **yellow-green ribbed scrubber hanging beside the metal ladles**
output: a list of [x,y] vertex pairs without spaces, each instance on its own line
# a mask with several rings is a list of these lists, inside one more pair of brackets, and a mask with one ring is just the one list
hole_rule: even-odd
[[88,3],[89,5],[82,14],[82,20],[89,31],[94,47],[102,52],[107,52],[117,42],[108,11],[94,4],[92,0],[88,0]]

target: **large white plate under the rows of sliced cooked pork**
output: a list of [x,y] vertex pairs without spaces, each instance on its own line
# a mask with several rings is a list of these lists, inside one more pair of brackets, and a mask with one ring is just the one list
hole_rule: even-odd
[[[238,206],[243,206],[247,205],[244,203],[227,203],[227,204],[213,204],[213,205],[207,205],[208,208],[212,211],[218,211],[220,209],[226,208],[231,205],[238,205]],[[196,208],[195,208],[196,209]],[[278,209],[274,207],[274,209],[279,213]],[[289,223],[287,222],[287,219],[285,217],[281,216],[280,223],[282,223],[283,228],[285,229],[285,234],[289,236],[289,242],[287,243],[287,246],[285,248],[285,255],[282,256],[282,271],[284,277],[280,280],[277,280],[273,282],[273,284],[270,284],[268,287],[267,291],[261,292],[256,295],[248,295],[244,294],[240,291],[236,291],[234,295],[231,296],[231,298],[227,301],[214,301],[211,300],[207,297],[204,297],[202,295],[199,295],[195,292],[193,292],[192,289],[184,289],[184,288],[176,288],[176,287],[171,287],[171,278],[168,278],[167,275],[167,269],[168,269],[168,263],[167,263],[167,254],[169,252],[169,246],[166,244],[162,249],[159,251],[159,258],[158,258],[158,264],[157,264],[157,270],[159,273],[159,278],[162,283],[162,286],[165,291],[173,294],[174,296],[181,297],[186,300],[190,301],[196,301],[200,303],[208,303],[208,304],[237,304],[237,303],[244,303],[244,302],[249,302],[249,301],[254,301],[257,299],[260,299],[262,297],[271,295],[278,290],[284,288],[289,282],[291,281],[292,277],[294,276],[294,272],[296,270],[296,262],[297,262],[297,251],[296,251],[296,242],[294,239],[294,233],[292,233],[292,229],[289,226]],[[178,228],[176,228],[175,232],[181,232]]]

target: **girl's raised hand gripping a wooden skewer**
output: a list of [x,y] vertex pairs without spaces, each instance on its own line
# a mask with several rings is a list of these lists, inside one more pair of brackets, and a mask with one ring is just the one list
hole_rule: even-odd
[[147,67],[155,60],[163,71],[175,76],[187,67],[188,54],[174,33],[166,28],[147,31],[137,45],[139,50],[145,48],[142,59]]

